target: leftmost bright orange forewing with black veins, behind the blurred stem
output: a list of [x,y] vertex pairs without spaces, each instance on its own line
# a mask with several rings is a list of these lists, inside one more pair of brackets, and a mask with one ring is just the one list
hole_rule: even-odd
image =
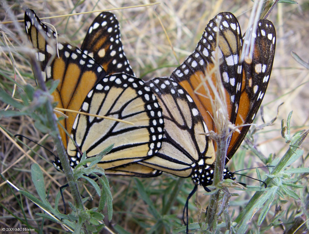
[[[30,42],[38,49],[36,58],[41,65],[42,76],[46,81],[59,80],[57,90],[53,92],[57,107],[79,110],[95,83],[105,77],[104,69],[80,49],[56,43],[56,33],[43,24],[31,9],[25,11],[25,28]],[[69,118],[63,119],[61,124],[70,133],[76,114],[65,114]],[[59,131],[66,147],[66,133],[61,127]]]

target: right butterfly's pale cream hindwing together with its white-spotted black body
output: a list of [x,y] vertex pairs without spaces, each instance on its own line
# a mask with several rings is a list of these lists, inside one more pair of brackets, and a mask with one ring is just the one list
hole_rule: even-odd
[[194,183],[212,184],[215,152],[203,117],[191,96],[175,81],[154,78],[146,84],[162,107],[164,137],[159,152],[139,164],[179,177],[192,177]]

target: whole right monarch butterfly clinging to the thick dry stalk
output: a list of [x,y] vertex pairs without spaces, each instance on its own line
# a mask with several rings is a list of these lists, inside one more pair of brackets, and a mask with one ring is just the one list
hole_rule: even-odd
[[[164,139],[162,148],[155,156],[138,164],[179,177],[192,177],[195,186],[187,198],[187,211],[188,199],[199,184],[209,191],[207,186],[212,184],[216,158],[216,143],[207,136],[199,135],[216,131],[210,106],[210,99],[214,96],[213,93],[207,96],[204,86],[197,87],[205,80],[205,73],[214,67],[212,59],[218,46],[229,119],[240,130],[240,133],[233,132],[229,140],[227,163],[250,127],[241,125],[252,123],[258,111],[273,64],[276,44],[273,24],[268,20],[259,20],[257,31],[252,35],[256,39],[252,60],[247,58],[240,62],[243,39],[239,23],[233,14],[220,13],[208,23],[193,54],[174,70],[169,79],[161,77],[146,82],[163,109]],[[214,76],[211,79],[215,82]],[[209,85],[209,81],[205,82],[206,86]],[[235,179],[227,168],[223,178]]]

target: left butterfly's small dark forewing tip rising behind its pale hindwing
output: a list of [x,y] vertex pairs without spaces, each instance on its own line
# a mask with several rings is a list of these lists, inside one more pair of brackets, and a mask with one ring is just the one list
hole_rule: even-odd
[[93,57],[107,72],[134,75],[123,51],[119,22],[110,12],[100,13],[87,31],[81,50]]

